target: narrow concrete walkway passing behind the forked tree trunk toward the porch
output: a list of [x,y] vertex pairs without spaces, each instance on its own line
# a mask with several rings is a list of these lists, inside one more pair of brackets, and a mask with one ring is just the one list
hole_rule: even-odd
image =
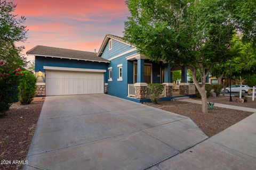
[[[194,100],[194,99],[181,99],[180,101],[186,101],[189,103],[195,103],[195,104],[202,104],[201,100]],[[256,112],[255,108],[249,108],[249,107],[241,107],[241,106],[233,106],[233,105],[225,105],[225,104],[220,104],[220,103],[214,103],[214,106],[217,107],[222,107],[222,108],[230,108],[230,109],[236,109],[238,111],[246,111],[246,112]]]

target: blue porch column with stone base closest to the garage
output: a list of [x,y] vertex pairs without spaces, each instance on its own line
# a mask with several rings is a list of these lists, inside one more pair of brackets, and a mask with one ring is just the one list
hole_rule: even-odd
[[137,83],[134,84],[135,87],[135,98],[145,99],[148,97],[148,84],[145,83],[144,79],[144,59],[143,56],[136,57],[137,63]]

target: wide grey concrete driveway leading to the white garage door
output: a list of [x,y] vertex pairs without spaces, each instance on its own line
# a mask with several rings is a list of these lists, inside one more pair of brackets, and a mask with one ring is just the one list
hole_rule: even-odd
[[188,117],[113,96],[46,97],[25,169],[146,169],[206,138]]

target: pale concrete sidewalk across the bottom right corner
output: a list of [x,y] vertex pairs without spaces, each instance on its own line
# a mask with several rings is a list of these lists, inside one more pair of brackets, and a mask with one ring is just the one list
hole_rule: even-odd
[[256,113],[150,170],[255,169]]

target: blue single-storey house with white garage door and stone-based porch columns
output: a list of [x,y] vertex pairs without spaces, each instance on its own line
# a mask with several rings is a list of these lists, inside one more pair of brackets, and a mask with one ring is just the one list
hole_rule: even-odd
[[185,66],[147,60],[122,37],[106,35],[98,54],[79,50],[36,46],[27,52],[35,56],[37,95],[103,94],[149,101],[148,83],[163,83],[162,100],[172,96],[172,72],[181,70],[180,94],[189,95]]

